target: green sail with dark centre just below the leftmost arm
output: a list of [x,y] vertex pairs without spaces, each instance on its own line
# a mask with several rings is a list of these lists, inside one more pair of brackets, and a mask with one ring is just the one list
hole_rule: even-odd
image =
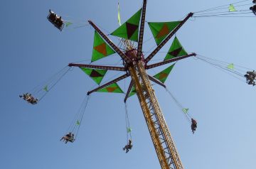
[[107,70],[97,70],[97,69],[90,69],[86,67],[80,67],[80,69],[89,75],[92,80],[94,80],[97,84],[100,84],[103,77],[105,76]]

